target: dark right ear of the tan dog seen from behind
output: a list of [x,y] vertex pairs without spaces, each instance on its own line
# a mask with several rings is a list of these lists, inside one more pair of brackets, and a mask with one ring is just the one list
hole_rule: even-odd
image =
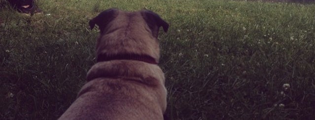
[[152,32],[154,31],[158,32],[161,26],[163,27],[164,32],[168,31],[169,24],[166,23],[158,14],[149,10],[143,10],[141,12],[141,15],[144,18],[145,22],[150,27],[150,29],[152,30]]

